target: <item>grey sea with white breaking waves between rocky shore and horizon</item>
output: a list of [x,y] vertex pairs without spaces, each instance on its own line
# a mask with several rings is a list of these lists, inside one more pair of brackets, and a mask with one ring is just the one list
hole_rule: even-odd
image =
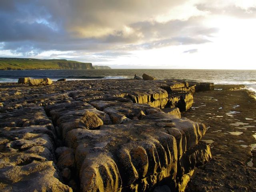
[[110,69],[110,70],[2,70],[0,83],[18,82],[20,77],[58,80],[126,79],[143,73],[157,79],[184,79],[214,84],[243,84],[256,93],[256,70]]

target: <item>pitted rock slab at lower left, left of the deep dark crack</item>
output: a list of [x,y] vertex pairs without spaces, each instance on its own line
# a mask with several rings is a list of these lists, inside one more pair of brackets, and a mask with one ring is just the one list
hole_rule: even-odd
[[56,135],[42,107],[0,114],[0,190],[71,192],[55,163]]

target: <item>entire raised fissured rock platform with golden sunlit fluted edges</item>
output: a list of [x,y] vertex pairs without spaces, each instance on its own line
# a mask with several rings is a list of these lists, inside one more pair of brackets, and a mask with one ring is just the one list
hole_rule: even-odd
[[184,191],[211,158],[183,80],[0,84],[1,191]]

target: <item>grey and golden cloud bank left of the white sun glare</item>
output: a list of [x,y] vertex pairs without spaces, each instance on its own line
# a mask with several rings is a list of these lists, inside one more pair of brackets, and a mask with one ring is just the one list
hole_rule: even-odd
[[[105,61],[134,50],[205,44],[219,30],[207,24],[209,15],[255,16],[254,6],[237,1],[0,0],[0,53],[37,57],[57,50],[68,54],[49,56]],[[170,14],[183,6],[186,19]]]

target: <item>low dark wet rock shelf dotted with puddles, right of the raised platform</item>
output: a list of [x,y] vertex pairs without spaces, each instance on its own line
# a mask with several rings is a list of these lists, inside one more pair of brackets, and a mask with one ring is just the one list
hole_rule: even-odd
[[208,126],[203,141],[213,156],[186,191],[256,191],[256,100],[243,88],[215,85],[196,92],[192,109],[182,114]]

